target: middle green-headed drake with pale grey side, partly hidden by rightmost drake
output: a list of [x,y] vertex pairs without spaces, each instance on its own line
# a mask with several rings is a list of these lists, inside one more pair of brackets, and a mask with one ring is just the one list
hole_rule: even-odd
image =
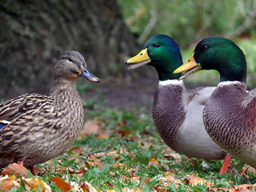
[[150,65],[158,72],[159,84],[154,96],[153,119],[162,140],[171,149],[190,157],[223,159],[222,150],[206,133],[202,109],[214,87],[199,88],[188,93],[180,74],[182,55],[173,38],[163,34],[151,37],[144,49],[126,61],[130,69]]

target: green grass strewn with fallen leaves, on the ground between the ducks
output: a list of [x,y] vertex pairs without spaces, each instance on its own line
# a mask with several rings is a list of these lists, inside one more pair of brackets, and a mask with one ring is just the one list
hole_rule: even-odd
[[[81,147],[82,151],[74,153],[69,150],[61,157],[37,166],[42,173],[39,178],[50,185],[53,191],[62,191],[50,179],[57,176],[77,186],[89,182],[98,191],[209,190],[205,182],[193,184],[195,178],[190,178],[191,175],[212,182],[214,186],[211,189],[254,184],[254,180],[250,179],[255,178],[255,174],[219,175],[222,161],[206,161],[209,168],[204,168],[202,159],[187,158],[185,155],[181,155],[178,160],[164,158],[163,154],[175,152],[167,150],[168,147],[155,130],[151,115],[139,108],[113,110],[98,107],[97,110],[90,110],[90,118],[94,118],[100,128],[98,134],[80,137],[74,142],[71,148]],[[90,154],[106,148],[109,149]],[[240,163],[232,159],[232,166]],[[79,174],[80,170],[84,170],[83,174]],[[168,175],[179,180],[180,184],[175,186],[174,182],[165,181]]]

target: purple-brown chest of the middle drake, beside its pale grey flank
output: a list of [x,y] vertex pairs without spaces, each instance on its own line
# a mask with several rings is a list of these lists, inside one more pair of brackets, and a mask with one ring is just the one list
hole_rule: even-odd
[[175,145],[178,129],[185,119],[182,86],[158,86],[152,109],[154,124],[168,146]]

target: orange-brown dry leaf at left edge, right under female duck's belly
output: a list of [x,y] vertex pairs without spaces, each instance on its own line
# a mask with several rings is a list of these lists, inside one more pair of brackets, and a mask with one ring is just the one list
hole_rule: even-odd
[[18,177],[23,175],[24,177],[27,177],[28,170],[25,166],[19,165],[18,163],[9,164],[6,166],[4,170],[2,170],[2,175],[12,175],[16,174]]

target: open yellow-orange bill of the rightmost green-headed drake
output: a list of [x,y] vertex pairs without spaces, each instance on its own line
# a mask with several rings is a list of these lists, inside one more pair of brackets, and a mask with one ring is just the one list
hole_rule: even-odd
[[179,79],[183,79],[183,78],[186,78],[186,76],[188,76],[190,74],[194,74],[194,72],[200,70],[201,68],[202,67],[200,66],[200,64],[198,64],[194,60],[194,53],[193,53],[187,62],[185,62],[182,66],[180,66],[176,70],[174,70],[174,74],[183,73],[182,77],[179,78]]

